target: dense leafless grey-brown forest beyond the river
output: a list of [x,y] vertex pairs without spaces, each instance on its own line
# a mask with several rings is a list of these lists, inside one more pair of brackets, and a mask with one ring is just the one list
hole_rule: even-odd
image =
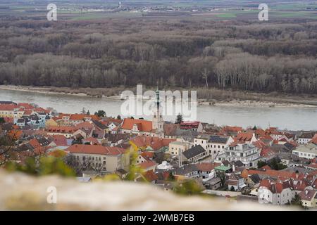
[[0,84],[317,94],[317,22],[1,20]]

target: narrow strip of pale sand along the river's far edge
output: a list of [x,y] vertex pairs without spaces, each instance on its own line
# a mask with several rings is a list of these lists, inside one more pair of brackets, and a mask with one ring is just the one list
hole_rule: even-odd
[[[9,91],[26,91],[26,92],[34,92],[39,94],[59,94],[59,95],[69,95],[69,96],[81,96],[81,97],[92,97],[92,98],[109,98],[113,100],[120,100],[119,95],[112,96],[92,96],[86,93],[73,93],[70,91],[51,91],[51,87],[35,87],[35,86],[14,86],[14,85],[0,85],[1,90],[9,90]],[[294,104],[294,103],[274,103],[274,102],[265,102],[265,101],[204,101],[204,99],[198,100],[199,105],[211,105],[211,106],[244,106],[244,107],[285,107],[285,108],[301,108],[301,107],[309,107],[316,108],[317,105],[309,105],[309,104]]]

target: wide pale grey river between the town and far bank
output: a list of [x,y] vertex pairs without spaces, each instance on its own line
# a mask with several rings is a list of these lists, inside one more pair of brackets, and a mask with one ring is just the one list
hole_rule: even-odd
[[[123,101],[110,98],[89,96],[71,96],[65,94],[39,94],[29,91],[8,91],[0,89],[0,101],[36,103],[51,107],[61,113],[80,113],[82,108],[94,113],[105,110],[108,116],[120,114]],[[150,117],[144,116],[149,119]],[[165,120],[175,120],[164,118]],[[235,125],[241,127],[260,126],[262,128],[278,127],[289,130],[317,130],[317,108],[309,107],[247,107],[226,105],[198,105],[197,120],[218,125]]]

